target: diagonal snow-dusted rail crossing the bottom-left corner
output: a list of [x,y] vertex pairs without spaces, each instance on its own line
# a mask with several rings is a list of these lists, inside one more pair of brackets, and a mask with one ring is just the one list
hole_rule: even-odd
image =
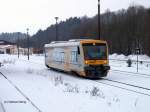
[[[2,72],[0,72],[0,75],[3,76],[28,102],[31,103],[31,105],[38,111],[42,112],[41,109],[31,101],[31,99],[24,94],[10,79],[8,79]],[[4,108],[4,107],[3,107]],[[5,111],[4,111],[5,112]]]

